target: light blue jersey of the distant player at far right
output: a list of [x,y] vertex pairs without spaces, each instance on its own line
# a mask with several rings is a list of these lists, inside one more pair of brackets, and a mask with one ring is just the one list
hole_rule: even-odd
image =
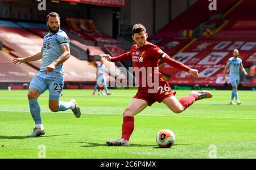
[[229,77],[230,78],[239,78],[240,77],[240,67],[242,64],[242,60],[237,57],[231,57],[228,60],[228,65],[229,65]]

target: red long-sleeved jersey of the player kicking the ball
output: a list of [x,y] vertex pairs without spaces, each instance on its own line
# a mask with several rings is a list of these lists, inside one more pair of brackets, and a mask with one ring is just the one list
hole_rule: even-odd
[[[138,48],[135,44],[131,47],[129,52],[117,57],[112,57],[111,61],[115,62],[132,60],[135,78],[137,80],[139,89],[147,89],[151,88],[151,85],[144,85],[148,78],[151,78],[154,83],[154,76],[157,75],[158,81],[164,81],[162,74],[158,71],[159,59],[165,61],[174,68],[179,68],[186,72],[188,72],[190,69],[179,61],[171,59],[171,57],[164,53],[162,49],[149,42],[146,42],[142,48]],[[144,73],[144,71],[146,71],[146,73]]]

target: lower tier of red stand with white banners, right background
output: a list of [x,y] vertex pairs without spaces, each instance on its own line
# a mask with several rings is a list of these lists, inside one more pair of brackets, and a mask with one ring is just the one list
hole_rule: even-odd
[[[161,65],[159,71],[168,76],[170,84],[197,84],[222,86],[222,74],[233,50],[240,51],[243,66],[249,67],[249,57],[255,53],[256,42],[253,38],[201,38],[189,45],[173,59],[199,70],[199,77],[193,78],[189,73],[172,68],[167,64]],[[228,74],[228,73],[227,73]],[[227,76],[228,77],[228,76]]]

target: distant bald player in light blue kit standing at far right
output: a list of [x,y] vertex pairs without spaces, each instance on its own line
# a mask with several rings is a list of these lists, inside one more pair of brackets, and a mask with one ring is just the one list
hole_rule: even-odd
[[230,79],[230,83],[232,85],[232,93],[231,93],[231,100],[230,100],[230,105],[234,105],[235,103],[233,102],[234,97],[237,100],[237,104],[240,105],[241,101],[238,99],[238,93],[237,93],[237,87],[239,85],[239,81],[240,81],[240,69],[241,71],[245,74],[245,76],[247,75],[245,68],[243,68],[243,64],[242,64],[242,60],[240,59],[239,56],[239,51],[237,49],[234,49],[233,52],[233,57],[231,57],[228,60],[228,63],[226,64],[226,67],[224,69],[224,73],[223,73],[223,80],[226,81],[226,71],[229,68],[229,79]]

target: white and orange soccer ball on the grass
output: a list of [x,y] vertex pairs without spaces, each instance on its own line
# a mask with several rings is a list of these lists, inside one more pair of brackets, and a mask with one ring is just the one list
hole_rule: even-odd
[[160,148],[170,148],[174,145],[175,135],[169,129],[163,129],[156,135],[156,143]]

